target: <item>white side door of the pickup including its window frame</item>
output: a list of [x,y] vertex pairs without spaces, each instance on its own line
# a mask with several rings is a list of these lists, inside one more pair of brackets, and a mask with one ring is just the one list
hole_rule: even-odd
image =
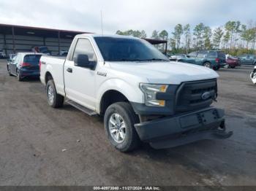
[[78,54],[88,55],[89,61],[97,62],[97,56],[89,39],[80,38],[76,42],[73,55],[64,64],[64,83],[67,98],[82,106],[95,110],[95,69],[75,66]]

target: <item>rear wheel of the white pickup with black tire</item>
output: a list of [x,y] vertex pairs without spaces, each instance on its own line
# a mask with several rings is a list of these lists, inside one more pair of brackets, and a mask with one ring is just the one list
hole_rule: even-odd
[[[51,89],[50,89],[51,88]],[[49,94],[49,91],[51,91],[51,93]],[[50,97],[50,95],[53,95],[53,97]],[[61,106],[63,106],[63,102],[64,102],[64,97],[62,95],[59,95],[56,91],[56,87],[55,84],[53,82],[53,79],[50,79],[47,82],[46,85],[46,96],[47,96],[47,101],[48,104],[53,107],[53,108],[59,108]],[[52,98],[52,99],[51,99]]]

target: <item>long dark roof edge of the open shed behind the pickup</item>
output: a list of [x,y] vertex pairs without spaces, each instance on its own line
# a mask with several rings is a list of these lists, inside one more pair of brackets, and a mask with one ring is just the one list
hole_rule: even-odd
[[48,38],[58,38],[59,32],[60,37],[64,39],[72,39],[77,34],[90,34],[90,32],[84,31],[67,31],[53,28],[39,28],[31,26],[14,26],[7,24],[0,24],[0,33],[12,34],[12,28],[14,28],[15,35],[23,36],[44,36]]

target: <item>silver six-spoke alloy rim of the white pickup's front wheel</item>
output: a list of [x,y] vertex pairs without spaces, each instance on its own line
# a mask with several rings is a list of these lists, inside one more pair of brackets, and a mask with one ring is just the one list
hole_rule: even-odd
[[127,136],[127,125],[120,114],[114,113],[110,116],[108,121],[108,128],[114,141],[117,143],[124,142]]

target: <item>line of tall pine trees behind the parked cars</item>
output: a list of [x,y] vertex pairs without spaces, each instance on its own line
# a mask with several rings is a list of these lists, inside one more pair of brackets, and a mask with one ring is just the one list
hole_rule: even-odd
[[[116,34],[146,38],[146,31],[128,30],[116,31]],[[191,25],[177,24],[170,34],[166,30],[154,30],[150,36],[152,39],[164,39],[168,41],[168,52],[189,53],[195,50],[222,50],[230,55],[244,53],[256,54],[256,22],[249,21],[242,24],[240,21],[230,20],[224,26],[211,28],[203,23],[194,28]],[[157,45],[159,50],[164,46]]]

